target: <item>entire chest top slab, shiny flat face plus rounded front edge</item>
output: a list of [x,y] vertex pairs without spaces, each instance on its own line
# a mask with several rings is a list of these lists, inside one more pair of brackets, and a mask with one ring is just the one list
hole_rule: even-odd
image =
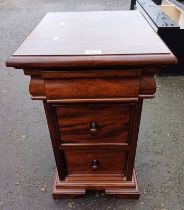
[[48,13],[7,66],[97,67],[176,63],[138,11]]

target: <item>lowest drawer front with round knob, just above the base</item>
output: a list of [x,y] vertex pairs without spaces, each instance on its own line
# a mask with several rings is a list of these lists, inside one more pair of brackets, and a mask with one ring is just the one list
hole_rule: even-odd
[[127,152],[121,150],[66,150],[68,175],[120,174],[125,175]]

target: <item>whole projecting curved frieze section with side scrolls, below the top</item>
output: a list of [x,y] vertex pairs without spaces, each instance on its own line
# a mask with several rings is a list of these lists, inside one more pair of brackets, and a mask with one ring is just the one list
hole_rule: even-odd
[[153,72],[157,72],[158,67],[148,67],[146,72],[107,70],[107,74],[105,70],[58,71],[57,74],[50,70],[36,71],[25,70],[32,75],[29,90],[33,99],[45,99],[48,103],[132,102],[141,97],[154,97]]

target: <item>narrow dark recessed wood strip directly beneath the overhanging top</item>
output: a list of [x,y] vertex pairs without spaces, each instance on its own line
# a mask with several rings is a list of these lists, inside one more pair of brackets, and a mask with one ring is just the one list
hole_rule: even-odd
[[[108,78],[108,77],[139,77],[144,74],[155,74],[160,72],[160,68],[165,68],[167,65],[160,66],[147,66],[146,68],[141,67],[120,67],[120,68],[95,68],[86,70],[80,69],[77,71],[75,69],[70,70],[67,68],[48,68],[48,69],[37,69],[37,68],[24,68],[24,74],[29,76],[39,76],[44,79],[57,79],[57,78]],[[131,74],[130,74],[131,70]],[[100,71],[100,75],[99,75]]]

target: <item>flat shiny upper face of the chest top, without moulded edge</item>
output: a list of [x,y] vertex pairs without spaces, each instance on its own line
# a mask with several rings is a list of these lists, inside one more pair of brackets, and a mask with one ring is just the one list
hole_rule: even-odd
[[137,11],[48,13],[14,55],[170,54]]

